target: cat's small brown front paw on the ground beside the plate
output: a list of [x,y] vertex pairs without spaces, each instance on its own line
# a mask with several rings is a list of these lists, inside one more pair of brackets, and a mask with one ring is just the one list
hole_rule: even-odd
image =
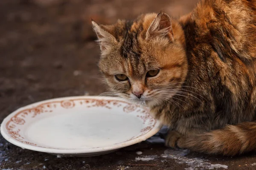
[[178,133],[175,130],[170,130],[166,136],[165,145],[167,147],[184,148],[185,147],[184,143],[185,143],[185,137],[183,137],[180,133]]

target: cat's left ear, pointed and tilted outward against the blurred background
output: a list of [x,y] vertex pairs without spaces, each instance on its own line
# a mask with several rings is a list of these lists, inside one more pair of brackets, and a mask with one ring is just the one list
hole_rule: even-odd
[[116,38],[103,26],[92,20],[93,30],[96,32],[101,51],[105,51],[116,43]]

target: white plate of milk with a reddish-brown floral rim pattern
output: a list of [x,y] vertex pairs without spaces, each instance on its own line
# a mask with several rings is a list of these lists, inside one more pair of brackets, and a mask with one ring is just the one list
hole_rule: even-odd
[[1,124],[19,147],[61,156],[96,156],[142,142],[162,125],[147,108],[113,97],[76,96],[37,102]]

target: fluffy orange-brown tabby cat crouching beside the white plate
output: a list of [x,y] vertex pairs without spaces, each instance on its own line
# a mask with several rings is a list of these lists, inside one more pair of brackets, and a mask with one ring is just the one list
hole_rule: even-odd
[[168,125],[166,146],[256,150],[256,0],[202,0],[180,19],[160,12],[92,25],[110,90]]

